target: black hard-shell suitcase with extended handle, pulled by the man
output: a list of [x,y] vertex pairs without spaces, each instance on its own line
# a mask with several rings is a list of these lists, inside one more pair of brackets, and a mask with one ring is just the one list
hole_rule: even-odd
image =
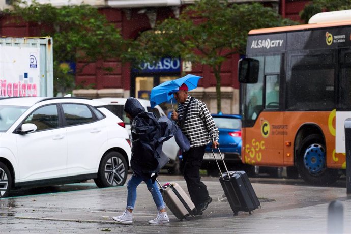
[[[211,148],[213,157],[215,157],[215,153]],[[255,191],[251,185],[249,177],[247,176],[245,171],[228,171],[221,151],[218,149],[219,155],[224,164],[225,173],[222,173],[221,168],[216,160],[219,172],[221,173],[221,177],[219,178],[219,182],[222,185],[224,190],[224,194],[228,199],[231,210],[234,212],[234,215],[238,215],[239,211],[249,212],[249,214],[253,214],[253,210],[261,209],[261,205],[256,196]],[[229,176],[228,176],[229,175]]]

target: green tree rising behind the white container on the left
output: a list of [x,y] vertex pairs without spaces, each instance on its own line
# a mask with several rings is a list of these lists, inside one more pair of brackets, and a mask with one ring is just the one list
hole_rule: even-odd
[[31,5],[14,2],[13,9],[7,13],[16,20],[40,26],[40,35],[36,36],[52,36],[55,95],[70,93],[75,87],[75,74],[67,62],[88,64],[122,57],[127,46],[120,30],[89,5],[57,8],[37,2]]

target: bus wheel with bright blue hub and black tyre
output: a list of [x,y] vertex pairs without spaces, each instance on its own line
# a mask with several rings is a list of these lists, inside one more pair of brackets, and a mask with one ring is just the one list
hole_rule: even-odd
[[326,146],[318,134],[309,135],[302,142],[297,158],[298,171],[305,182],[328,185],[338,179],[338,171],[326,166]]

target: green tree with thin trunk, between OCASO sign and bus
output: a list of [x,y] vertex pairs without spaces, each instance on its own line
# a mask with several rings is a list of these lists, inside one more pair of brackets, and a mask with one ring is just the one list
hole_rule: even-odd
[[[154,30],[143,32],[130,55],[140,61],[160,57],[181,57],[208,65],[216,78],[217,111],[221,111],[221,67],[230,55],[245,54],[248,32],[253,28],[296,24],[282,19],[272,8],[259,3],[229,4],[200,0],[186,7],[179,19],[159,22]],[[142,49],[140,49],[142,48]]]

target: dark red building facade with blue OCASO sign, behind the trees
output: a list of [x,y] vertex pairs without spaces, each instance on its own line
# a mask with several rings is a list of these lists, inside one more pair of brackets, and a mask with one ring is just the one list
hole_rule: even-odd
[[[30,2],[30,1],[28,1]],[[178,17],[182,8],[192,4],[194,0],[40,0],[39,3],[51,3],[53,6],[66,4],[90,4],[99,8],[106,18],[121,29],[122,36],[136,39],[140,32],[150,30],[156,21],[168,17]],[[249,2],[232,0],[231,2]],[[299,12],[308,1],[271,0],[256,1],[269,4],[283,17],[300,20]],[[0,0],[0,9],[10,7],[8,0]],[[7,23],[5,15],[0,15],[0,35],[6,37],[38,36],[40,26],[36,24]],[[221,100],[223,113],[239,112],[239,82],[237,77],[239,54],[232,55],[223,63],[221,70]],[[106,71],[105,67],[112,68]],[[83,68],[83,63],[76,64],[76,70]],[[202,76],[199,87],[191,91],[191,95],[207,103],[212,113],[217,112],[216,79],[208,66],[185,63],[182,58],[164,58],[156,66],[141,64],[134,69],[130,64],[122,64],[118,60],[97,61],[85,66],[76,74],[76,85],[79,87],[94,86],[94,89],[77,89],[75,96],[99,97],[128,97],[148,99],[152,87],[170,79],[176,79],[185,74]],[[166,108],[167,106],[164,106]]]

